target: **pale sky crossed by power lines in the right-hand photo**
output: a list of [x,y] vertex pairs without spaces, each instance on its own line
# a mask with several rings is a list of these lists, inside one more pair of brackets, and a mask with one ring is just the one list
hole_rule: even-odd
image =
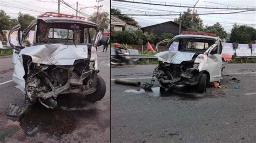
[[[129,0],[128,0],[129,1]],[[131,0],[130,0],[131,1]],[[134,0],[136,2],[145,2],[145,3],[159,3],[167,5],[184,5],[184,6],[193,6],[197,0],[173,0],[173,1],[163,1],[163,0]],[[255,0],[200,0],[196,6],[207,6],[217,8],[256,8]],[[148,4],[136,4],[136,3],[125,3],[125,2],[116,2],[111,1],[111,8],[118,8],[122,13],[125,14],[177,14],[183,13],[187,8],[177,8],[170,6],[159,6],[159,5],[148,5]],[[195,9],[198,13],[209,13],[209,12],[235,12],[241,10],[214,10],[214,9]],[[145,27],[149,25],[154,25],[158,23],[168,22],[174,20],[179,16],[130,16],[133,17],[140,26]],[[216,22],[219,22],[224,28],[225,31],[231,32],[231,29],[234,23],[238,25],[247,24],[256,28],[256,11],[244,12],[244,13],[234,13],[228,15],[201,15],[199,16],[204,25],[211,26]]]

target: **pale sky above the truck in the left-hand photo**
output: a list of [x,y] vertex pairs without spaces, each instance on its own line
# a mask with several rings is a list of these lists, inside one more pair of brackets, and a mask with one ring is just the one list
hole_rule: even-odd
[[[78,10],[80,8],[86,8],[90,6],[97,5],[96,0],[61,0],[69,5],[72,6],[72,8],[76,9],[76,2],[78,2]],[[103,2],[99,2],[99,5],[103,5],[102,8],[100,8],[100,12],[108,12],[110,13],[110,0],[103,0]],[[58,12],[58,0],[0,0],[0,9],[4,10],[7,15],[9,15],[11,18],[17,18],[18,12],[21,11],[22,13],[29,13],[32,16],[39,16],[41,13],[51,11],[51,12]],[[93,12],[97,12],[97,9],[93,8],[86,8],[81,10],[83,13],[86,13],[86,15],[92,15]],[[63,3],[60,3],[60,13],[66,13],[69,15],[76,15],[76,11],[72,10],[68,6],[64,5]],[[78,13],[79,16],[79,13]],[[80,15],[83,16],[83,15]],[[85,16],[86,18],[88,16]]]

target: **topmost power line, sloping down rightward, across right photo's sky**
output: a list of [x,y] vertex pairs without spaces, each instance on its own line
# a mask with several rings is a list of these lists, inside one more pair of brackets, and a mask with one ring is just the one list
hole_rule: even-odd
[[144,3],[144,2],[134,2],[134,1],[118,1],[118,2],[125,2],[125,3],[137,3],[137,4],[149,4],[149,5],[160,5],[160,6],[172,6],[172,7],[179,7],[179,8],[197,8],[197,9],[221,9],[221,10],[256,10],[256,9],[249,9],[249,8],[213,8],[213,7],[201,7],[201,6],[184,6],[184,5],[169,5],[169,4],[159,4],[159,3]]

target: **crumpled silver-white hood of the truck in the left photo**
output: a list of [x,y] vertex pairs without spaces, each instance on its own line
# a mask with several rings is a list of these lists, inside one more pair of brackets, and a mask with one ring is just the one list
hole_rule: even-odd
[[88,48],[86,45],[44,44],[26,47],[21,55],[29,55],[32,62],[45,65],[73,65],[75,60],[86,59]]

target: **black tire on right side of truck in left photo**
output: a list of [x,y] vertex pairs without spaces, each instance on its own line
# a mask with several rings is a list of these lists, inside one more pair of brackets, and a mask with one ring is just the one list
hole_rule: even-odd
[[106,84],[102,77],[97,75],[97,87],[96,91],[93,94],[86,95],[86,100],[95,102],[99,101],[105,96],[106,93]]

